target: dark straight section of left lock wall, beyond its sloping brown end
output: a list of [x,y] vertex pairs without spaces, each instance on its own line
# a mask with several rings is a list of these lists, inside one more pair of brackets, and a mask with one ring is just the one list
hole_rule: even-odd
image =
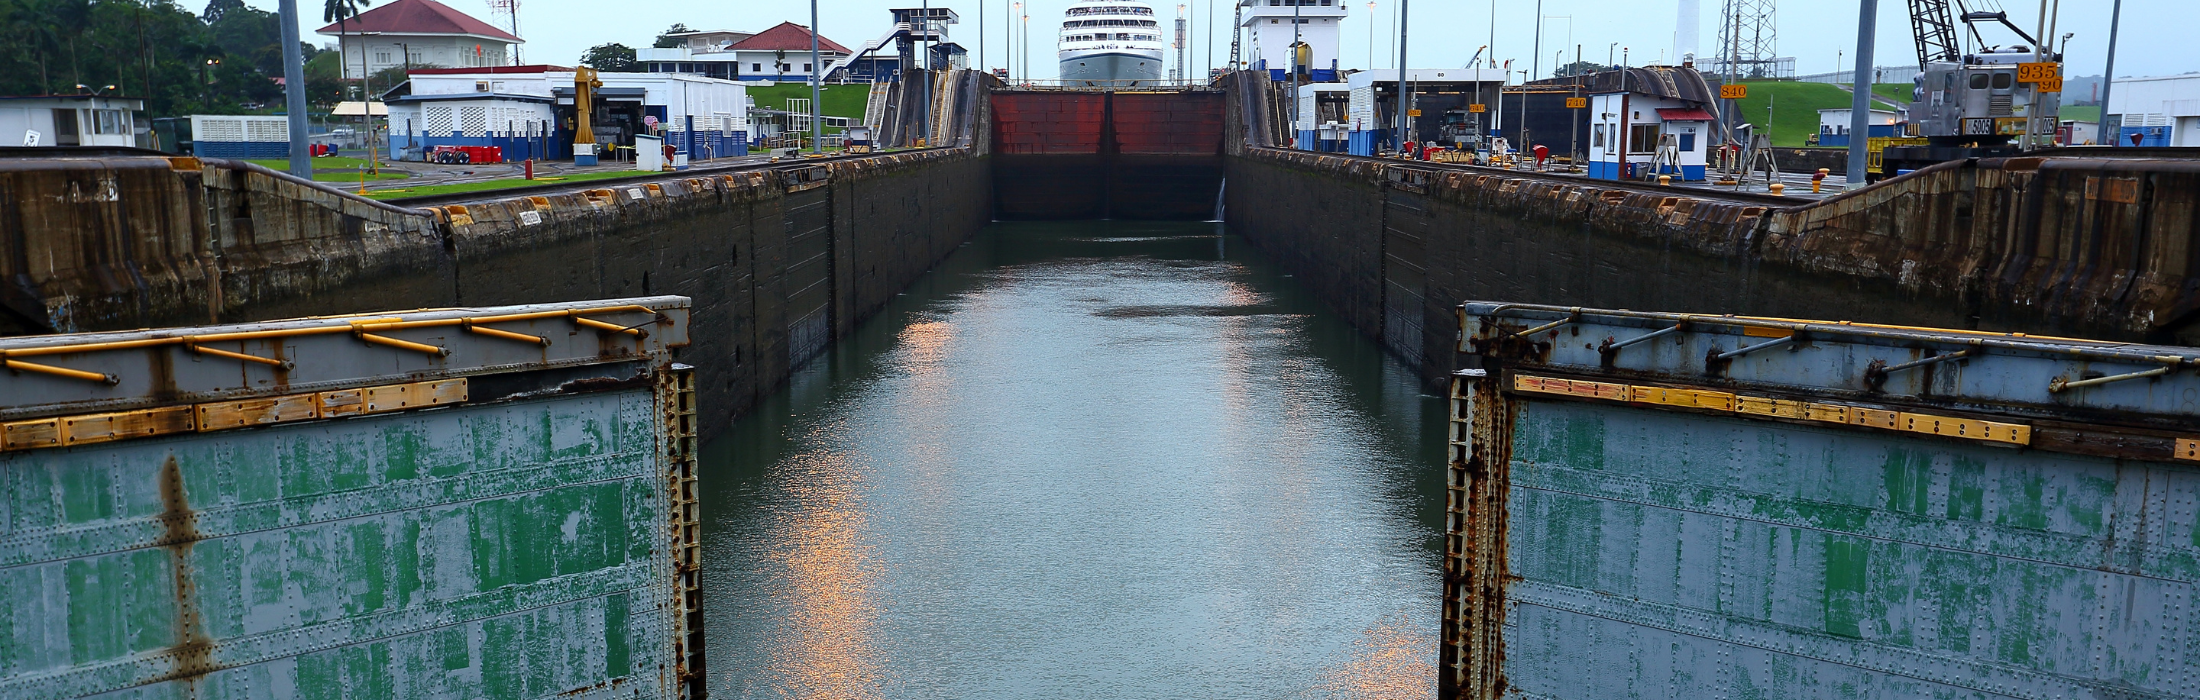
[[931,150],[444,207],[453,297],[693,297],[680,361],[726,418],[977,233],[983,181],[986,158]]

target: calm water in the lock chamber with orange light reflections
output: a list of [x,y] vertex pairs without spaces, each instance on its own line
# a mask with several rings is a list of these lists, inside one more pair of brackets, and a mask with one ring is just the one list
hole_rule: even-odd
[[715,698],[1430,698],[1443,403],[1219,225],[994,225],[704,447]]

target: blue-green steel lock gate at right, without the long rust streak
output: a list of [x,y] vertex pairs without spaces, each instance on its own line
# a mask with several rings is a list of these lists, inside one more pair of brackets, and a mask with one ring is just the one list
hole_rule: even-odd
[[1461,328],[1443,698],[2200,698],[2200,350]]

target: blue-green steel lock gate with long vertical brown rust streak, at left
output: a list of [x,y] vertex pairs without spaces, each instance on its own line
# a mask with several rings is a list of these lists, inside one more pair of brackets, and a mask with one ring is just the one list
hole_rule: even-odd
[[697,698],[689,299],[0,339],[0,698]]

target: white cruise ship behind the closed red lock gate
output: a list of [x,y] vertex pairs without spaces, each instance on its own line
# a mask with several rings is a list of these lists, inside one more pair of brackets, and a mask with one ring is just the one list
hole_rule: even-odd
[[1063,81],[1071,86],[1151,86],[1162,79],[1162,24],[1137,0],[1082,0],[1063,13]]

